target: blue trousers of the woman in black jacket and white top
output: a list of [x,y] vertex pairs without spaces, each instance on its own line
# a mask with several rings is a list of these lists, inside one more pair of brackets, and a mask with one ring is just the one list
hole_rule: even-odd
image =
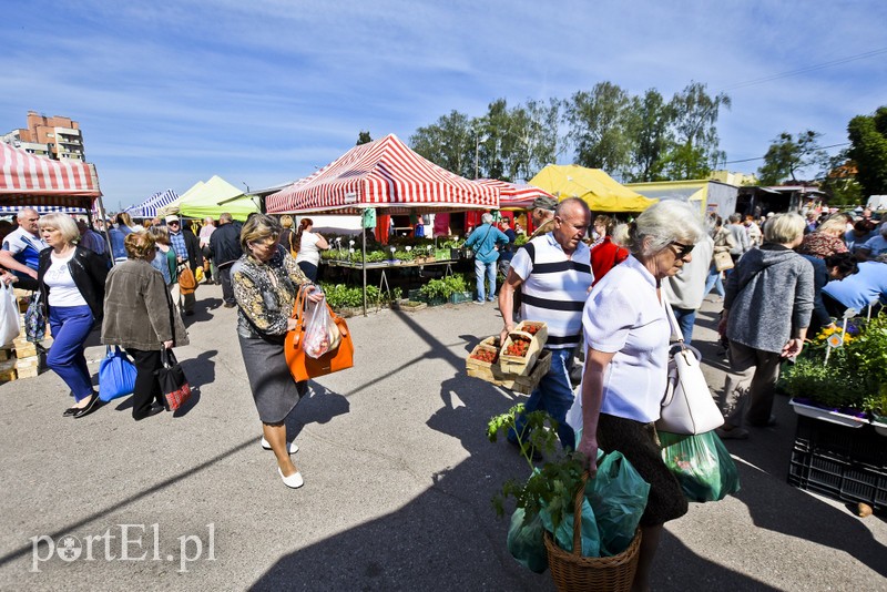
[[58,374],[80,401],[92,395],[92,378],[83,355],[83,344],[92,330],[89,306],[50,306],[49,326],[52,347],[47,366]]

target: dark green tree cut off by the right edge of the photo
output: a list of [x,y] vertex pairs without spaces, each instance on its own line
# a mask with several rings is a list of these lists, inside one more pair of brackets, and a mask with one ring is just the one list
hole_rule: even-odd
[[887,194],[887,105],[874,115],[857,115],[847,125],[848,155],[856,162],[863,196]]

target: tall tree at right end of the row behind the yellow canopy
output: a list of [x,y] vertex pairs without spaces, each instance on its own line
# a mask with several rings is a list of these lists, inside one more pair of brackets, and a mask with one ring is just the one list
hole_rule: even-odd
[[718,149],[717,116],[730,109],[725,93],[710,96],[706,85],[691,82],[669,102],[672,110],[674,147],[664,159],[669,178],[705,178],[725,159]]

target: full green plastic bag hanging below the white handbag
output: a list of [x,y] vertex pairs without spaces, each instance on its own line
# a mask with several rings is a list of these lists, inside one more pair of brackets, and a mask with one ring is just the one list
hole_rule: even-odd
[[660,431],[659,440],[662,460],[689,501],[718,501],[740,490],[736,463],[714,431],[695,436]]

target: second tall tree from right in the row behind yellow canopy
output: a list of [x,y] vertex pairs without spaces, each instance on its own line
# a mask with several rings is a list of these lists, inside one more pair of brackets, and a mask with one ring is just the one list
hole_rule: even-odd
[[629,133],[634,140],[631,152],[631,181],[661,181],[665,165],[664,156],[673,144],[671,123],[674,113],[655,89],[633,96],[629,116]]

